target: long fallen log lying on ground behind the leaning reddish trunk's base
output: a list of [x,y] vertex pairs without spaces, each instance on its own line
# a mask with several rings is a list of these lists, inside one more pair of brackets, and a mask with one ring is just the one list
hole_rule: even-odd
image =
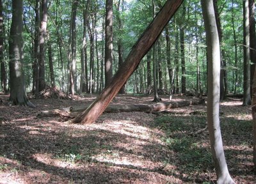
[[[179,102],[159,102],[157,104],[135,104],[135,105],[109,105],[105,109],[105,113],[107,112],[167,112],[170,109],[178,108],[178,107],[186,107],[189,105],[199,105],[204,104],[205,100],[200,99],[192,99],[192,100],[183,100]],[[74,118],[76,116],[76,112],[83,112],[84,109],[88,107],[67,107],[65,109],[53,109],[49,111],[40,112],[37,117],[53,117],[60,116],[61,119]]]

